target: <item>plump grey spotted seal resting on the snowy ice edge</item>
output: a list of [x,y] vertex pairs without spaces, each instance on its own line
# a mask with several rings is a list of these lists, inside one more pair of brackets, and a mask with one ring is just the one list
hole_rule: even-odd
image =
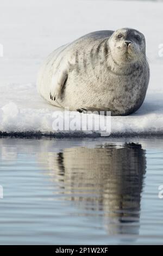
[[145,36],[122,28],[86,34],[52,52],[41,66],[37,90],[71,111],[128,115],[142,105],[148,83]]

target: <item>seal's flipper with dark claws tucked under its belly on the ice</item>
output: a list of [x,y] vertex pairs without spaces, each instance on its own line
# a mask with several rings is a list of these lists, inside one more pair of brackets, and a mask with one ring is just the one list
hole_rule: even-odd
[[77,111],[79,113],[84,113],[84,114],[101,114],[101,115],[109,115],[110,109],[108,108],[97,108],[97,107],[83,107],[83,108],[78,108]]

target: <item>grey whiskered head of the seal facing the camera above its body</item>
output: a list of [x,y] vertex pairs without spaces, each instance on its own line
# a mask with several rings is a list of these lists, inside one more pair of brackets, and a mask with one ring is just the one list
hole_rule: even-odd
[[109,49],[118,64],[143,62],[146,58],[145,36],[135,29],[118,29],[109,39]]

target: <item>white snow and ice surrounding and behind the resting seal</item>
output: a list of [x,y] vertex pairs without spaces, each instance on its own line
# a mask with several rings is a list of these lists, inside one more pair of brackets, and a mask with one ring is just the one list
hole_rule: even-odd
[[146,36],[151,80],[139,111],[111,117],[111,133],[163,134],[162,11],[161,1],[0,0],[0,133],[54,132],[55,107],[36,92],[43,59],[86,33],[131,27]]

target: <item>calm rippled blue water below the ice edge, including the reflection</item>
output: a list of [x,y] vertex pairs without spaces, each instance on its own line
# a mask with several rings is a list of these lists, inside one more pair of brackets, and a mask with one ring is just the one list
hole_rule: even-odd
[[0,139],[0,243],[163,244],[162,156],[163,138]]

